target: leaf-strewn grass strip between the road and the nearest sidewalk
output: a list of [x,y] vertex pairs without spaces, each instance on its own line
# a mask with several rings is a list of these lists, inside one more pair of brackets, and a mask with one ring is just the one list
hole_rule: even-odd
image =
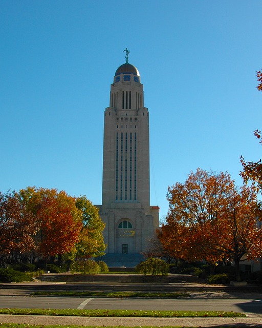
[[77,317],[151,317],[151,318],[235,318],[246,317],[239,312],[226,311],[142,311],[142,310],[74,310],[74,309],[0,309],[0,314],[77,316]]

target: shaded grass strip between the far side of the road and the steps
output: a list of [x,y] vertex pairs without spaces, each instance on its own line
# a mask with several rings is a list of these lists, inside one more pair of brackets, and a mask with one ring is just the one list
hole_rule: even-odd
[[76,291],[42,291],[34,292],[35,296],[71,296],[71,297],[153,297],[153,298],[184,298],[188,293],[158,293],[158,292],[76,292]]

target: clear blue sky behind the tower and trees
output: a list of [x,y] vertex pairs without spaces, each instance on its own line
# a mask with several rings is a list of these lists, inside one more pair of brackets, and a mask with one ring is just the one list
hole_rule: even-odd
[[0,190],[101,203],[103,116],[130,51],[150,113],[151,204],[198,167],[261,157],[262,2],[1,0]]

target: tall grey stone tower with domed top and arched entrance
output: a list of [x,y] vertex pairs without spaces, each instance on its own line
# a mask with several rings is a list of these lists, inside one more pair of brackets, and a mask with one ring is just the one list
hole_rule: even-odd
[[[132,266],[159,227],[159,207],[150,206],[149,113],[137,68],[116,70],[110,107],[104,112],[103,186],[99,214],[105,222],[107,262]],[[135,256],[137,255],[137,257]],[[132,259],[132,261],[130,261]],[[109,263],[113,264],[113,263]]]

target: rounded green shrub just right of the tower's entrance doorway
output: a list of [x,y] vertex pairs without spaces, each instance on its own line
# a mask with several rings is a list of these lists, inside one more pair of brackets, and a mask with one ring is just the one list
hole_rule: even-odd
[[149,257],[147,260],[139,263],[136,270],[144,275],[167,275],[169,267],[165,261],[159,258]]

